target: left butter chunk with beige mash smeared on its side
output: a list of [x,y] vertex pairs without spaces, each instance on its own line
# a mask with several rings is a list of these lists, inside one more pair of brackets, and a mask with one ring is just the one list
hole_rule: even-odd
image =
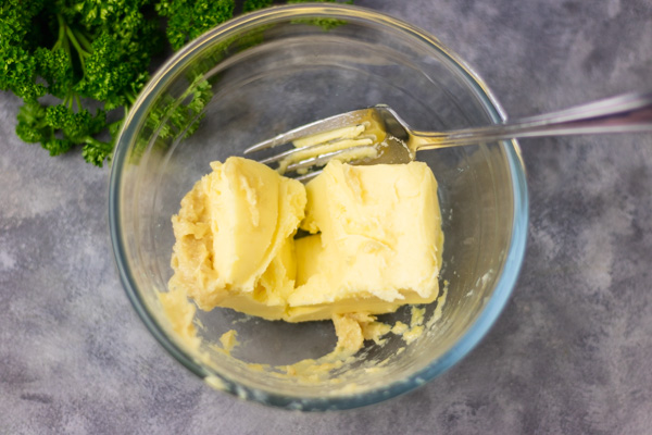
[[229,307],[280,319],[294,287],[294,235],[303,185],[242,158],[211,163],[172,219],[176,244],[170,288],[202,310]]

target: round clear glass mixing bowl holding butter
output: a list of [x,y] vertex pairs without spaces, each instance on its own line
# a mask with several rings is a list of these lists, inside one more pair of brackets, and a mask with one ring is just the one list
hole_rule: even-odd
[[[336,4],[279,7],[230,21],[178,51],[138,97],[114,154],[110,226],[122,283],[152,335],[210,385],[301,410],[365,406],[414,389],[460,361],[504,307],[523,261],[527,187],[516,141],[422,151],[439,183],[446,301],[426,306],[413,343],[388,334],[319,376],[283,368],[336,344],[330,322],[290,324],[228,309],[197,311],[200,348],[177,334],[167,290],[171,216],[209,162],[308,122],[377,103],[417,129],[504,120],[487,86],[435,37]],[[192,134],[190,134],[192,133]],[[410,323],[411,308],[380,316]],[[237,331],[240,345],[218,351]]]

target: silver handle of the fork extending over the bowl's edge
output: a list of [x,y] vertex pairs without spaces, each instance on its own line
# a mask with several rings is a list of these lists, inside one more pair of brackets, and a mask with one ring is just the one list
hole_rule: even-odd
[[525,137],[652,132],[652,91],[632,92],[486,127],[413,132],[413,150]]

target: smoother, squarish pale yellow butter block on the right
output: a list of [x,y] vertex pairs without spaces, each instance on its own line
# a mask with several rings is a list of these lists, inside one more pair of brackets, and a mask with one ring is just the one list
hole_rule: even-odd
[[422,162],[331,161],[306,185],[288,320],[392,312],[439,293],[443,234],[437,182]]

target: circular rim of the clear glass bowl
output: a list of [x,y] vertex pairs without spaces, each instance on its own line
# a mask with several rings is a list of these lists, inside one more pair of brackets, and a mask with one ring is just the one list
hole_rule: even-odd
[[496,289],[479,316],[468,327],[466,333],[440,358],[431,361],[428,365],[413,373],[404,380],[392,384],[374,388],[363,394],[342,395],[329,397],[300,397],[285,394],[277,394],[262,390],[255,387],[238,384],[222,373],[213,373],[206,368],[196,362],[184,352],[177,344],[167,337],[162,325],[154,320],[153,315],[147,309],[147,304],[137,291],[136,282],[131,275],[126,262],[124,235],[120,222],[120,181],[123,173],[123,162],[127,157],[126,146],[130,142],[138,129],[134,120],[138,120],[138,114],[143,112],[153,101],[156,90],[160,90],[166,83],[166,78],[174,76],[183,65],[183,60],[193,52],[201,50],[206,44],[215,38],[228,37],[229,33],[243,25],[263,24],[269,20],[277,18],[297,18],[310,16],[333,16],[347,18],[356,18],[372,22],[375,25],[392,27],[394,30],[406,34],[408,37],[417,38],[441,52],[444,58],[459,66],[467,84],[475,91],[484,108],[489,112],[494,123],[504,122],[506,114],[493,92],[488,88],[485,80],[472,69],[468,63],[462,60],[455,52],[441,44],[439,39],[410,23],[391,15],[373,11],[366,8],[353,7],[337,3],[303,3],[292,5],[280,5],[267,8],[250,14],[244,14],[233,18],[195,39],[178,50],[165,64],[163,64],[152,76],[146,87],[136,99],[131,110],[127,114],[123,128],[118,135],[117,145],[114,152],[114,160],[111,169],[109,184],[109,226],[111,243],[113,248],[113,258],[120,274],[122,285],[127,297],[154,338],[188,370],[197,374],[212,386],[218,386],[220,389],[236,395],[240,398],[247,398],[264,405],[271,405],[285,409],[300,409],[305,411],[321,410],[341,410],[352,409],[372,403],[380,402],[389,398],[409,393],[416,387],[426,384],[428,381],[446,372],[456,362],[461,361],[478,343],[487,335],[499,314],[505,307],[512,290],[516,284],[518,273],[523,265],[525,257],[525,247],[527,239],[527,226],[529,214],[529,200],[527,192],[527,182],[525,165],[522,159],[521,149],[516,140],[505,140],[501,147],[507,157],[509,167],[513,177],[512,195],[514,201],[513,228],[511,243],[505,257],[505,264]]

